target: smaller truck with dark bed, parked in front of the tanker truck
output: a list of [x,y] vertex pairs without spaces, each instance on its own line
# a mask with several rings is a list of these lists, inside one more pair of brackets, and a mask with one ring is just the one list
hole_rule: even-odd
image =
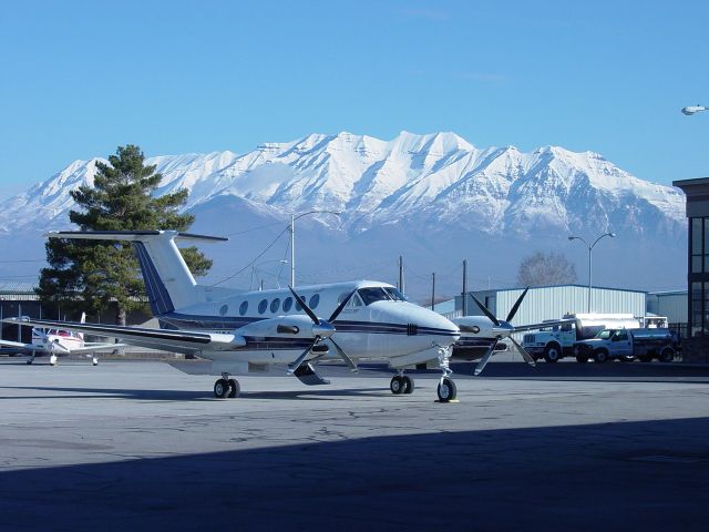
[[676,338],[668,329],[604,329],[594,338],[574,344],[574,355],[579,362],[589,359],[603,364],[619,359],[631,361],[636,358],[649,362],[657,358],[671,362],[675,358]]

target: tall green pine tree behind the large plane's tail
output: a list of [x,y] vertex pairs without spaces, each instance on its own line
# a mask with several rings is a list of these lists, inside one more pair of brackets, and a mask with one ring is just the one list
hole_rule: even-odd
[[[70,211],[69,219],[81,231],[186,231],[194,216],[178,209],[187,191],[154,197],[162,175],[144,163],[138,146],[119,146],[109,164],[96,163],[93,186],[71,192],[81,211]],[[42,269],[38,288],[44,305],[101,314],[115,301],[120,325],[125,325],[129,311],[145,308],[145,286],[130,243],[50,238],[45,247],[50,267]],[[205,275],[212,267],[195,247],[182,253],[193,275]]]

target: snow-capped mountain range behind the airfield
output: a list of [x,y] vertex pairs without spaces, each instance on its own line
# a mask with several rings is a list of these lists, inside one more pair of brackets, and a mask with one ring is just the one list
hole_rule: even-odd
[[[2,202],[0,231],[10,235],[66,228],[68,211],[74,207],[69,192],[93,183],[96,161],[75,161]],[[209,233],[238,233],[265,219],[285,226],[290,213],[341,212],[339,221],[316,215],[330,227],[329,264],[412,254],[421,272],[432,272],[436,264],[465,257],[466,250],[470,258],[482,253],[480,264],[490,267],[491,257],[502,260],[507,254],[511,264],[494,269],[507,272],[510,280],[525,254],[559,248],[567,256],[578,255],[564,242],[566,236],[605,231],[624,241],[623,246],[607,245],[608,252],[615,247],[625,256],[633,248],[628,257],[637,258],[655,248],[677,249],[676,255],[685,257],[679,252],[686,246],[684,194],[641,181],[592,152],[556,146],[531,153],[513,146],[481,150],[454,133],[402,132],[391,141],[340,133],[263,144],[243,155],[157,156],[147,164],[163,174],[158,194],[189,191],[186,209],[196,213],[196,226]],[[322,227],[308,218],[304,224]],[[244,253],[242,262],[248,263],[246,257],[256,256],[263,244],[264,235],[244,244],[242,250],[253,246],[253,253]],[[321,249],[316,255],[305,259],[304,268],[311,263],[317,269]],[[684,274],[681,263],[677,266],[662,272],[671,282],[655,284],[676,283]],[[626,274],[633,270],[628,266]]]

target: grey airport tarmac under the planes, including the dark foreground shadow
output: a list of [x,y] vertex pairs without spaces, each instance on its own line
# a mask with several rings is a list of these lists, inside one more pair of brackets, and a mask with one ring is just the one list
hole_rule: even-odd
[[[198,364],[198,362],[185,362]],[[709,368],[215,377],[0,358],[0,530],[707,530]]]

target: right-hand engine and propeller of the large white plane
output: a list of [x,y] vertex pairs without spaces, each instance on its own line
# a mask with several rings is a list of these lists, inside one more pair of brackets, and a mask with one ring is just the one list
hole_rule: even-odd
[[[483,316],[463,316],[452,319],[461,331],[460,340],[453,346],[453,359],[477,360],[480,358],[481,360],[475,367],[475,375],[477,376],[483,371],[483,369],[485,369],[485,366],[499,347],[503,346],[500,350],[512,348],[522,355],[522,358],[524,358],[530,366],[536,366],[532,355],[530,355],[512,335],[525,330],[534,330],[542,327],[565,324],[571,320],[562,319],[558,321],[545,321],[543,324],[531,324],[516,327],[512,325],[511,321],[517,314],[520,305],[522,305],[524,296],[527,295],[528,289],[530,287],[527,286],[520,295],[510,309],[507,318],[504,320],[499,319],[473,294],[470,294],[475,304],[483,311]],[[507,341],[510,344],[507,344]]]

